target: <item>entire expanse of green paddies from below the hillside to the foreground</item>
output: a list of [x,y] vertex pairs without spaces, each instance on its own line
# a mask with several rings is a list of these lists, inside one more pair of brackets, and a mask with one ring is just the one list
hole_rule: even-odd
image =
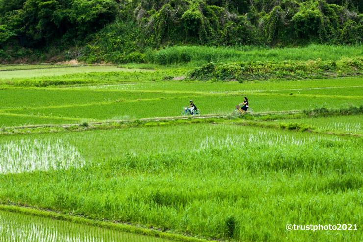
[[0,66],[0,241],[361,241],[363,78],[190,68]]

